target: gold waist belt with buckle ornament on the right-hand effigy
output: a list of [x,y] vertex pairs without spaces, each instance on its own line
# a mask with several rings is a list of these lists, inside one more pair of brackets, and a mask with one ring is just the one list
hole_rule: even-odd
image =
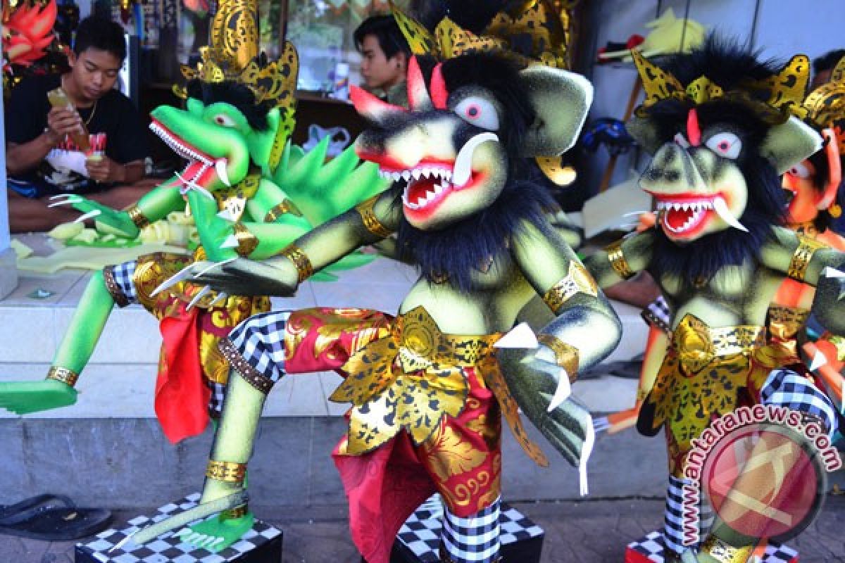
[[687,314],[672,333],[670,348],[684,371],[695,374],[713,360],[729,355],[750,355],[766,344],[766,328],[755,325],[710,328],[695,315]]

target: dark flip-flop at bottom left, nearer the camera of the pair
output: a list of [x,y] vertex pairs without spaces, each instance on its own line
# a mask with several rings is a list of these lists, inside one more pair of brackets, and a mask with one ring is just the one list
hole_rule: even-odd
[[67,497],[54,497],[66,506],[34,506],[0,518],[0,533],[27,539],[80,539],[101,532],[112,520],[102,508],[77,508]]

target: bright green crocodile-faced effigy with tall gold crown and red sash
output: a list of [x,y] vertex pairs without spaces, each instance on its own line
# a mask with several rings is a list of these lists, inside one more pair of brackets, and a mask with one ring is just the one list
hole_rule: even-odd
[[[255,7],[223,3],[211,45],[189,78],[184,110],[161,106],[151,129],[188,161],[183,172],[117,211],[76,195],[69,204],[98,229],[134,237],[174,211],[194,216],[200,245],[193,255],[139,257],[95,273],[52,361],[46,380],[0,383],[0,406],[18,414],[76,401],[74,383],[115,304],[140,303],[161,321],[163,344],[155,411],[166,436],[194,436],[219,415],[229,365],[218,341],[239,322],[270,310],[265,296],[210,292],[179,283],[156,288],[194,260],[274,256],[297,236],[387,187],[374,165],[358,166],[352,149],[323,165],[326,143],[310,154],[286,144],[293,127],[297,54],[290,43],[278,62],[257,54]],[[327,139],[328,140],[328,139]],[[326,140],[326,141],[327,141]],[[335,264],[354,267],[352,257]]]

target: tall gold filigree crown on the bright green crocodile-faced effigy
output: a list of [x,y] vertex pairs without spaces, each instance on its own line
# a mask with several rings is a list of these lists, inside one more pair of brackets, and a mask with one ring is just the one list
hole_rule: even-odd
[[[188,80],[199,78],[209,83],[232,80],[252,90],[258,103],[292,109],[299,70],[297,51],[286,41],[279,60],[268,61],[259,53],[258,40],[257,0],[221,2],[211,23],[209,46],[199,50],[196,67],[182,66],[182,74]],[[187,95],[178,86],[174,92]]]

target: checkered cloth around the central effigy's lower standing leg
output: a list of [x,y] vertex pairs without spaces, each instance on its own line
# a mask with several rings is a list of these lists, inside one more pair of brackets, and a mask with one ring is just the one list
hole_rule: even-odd
[[471,517],[444,507],[443,546],[454,563],[492,563],[499,556],[499,499]]

